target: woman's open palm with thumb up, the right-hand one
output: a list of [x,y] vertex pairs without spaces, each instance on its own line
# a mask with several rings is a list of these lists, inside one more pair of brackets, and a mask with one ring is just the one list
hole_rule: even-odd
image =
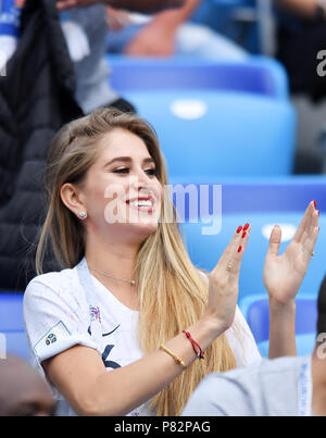
[[292,241],[284,254],[278,255],[281,229],[275,226],[269,238],[263,279],[269,299],[278,304],[294,300],[314,254],[318,236],[318,216],[315,201],[310,202]]

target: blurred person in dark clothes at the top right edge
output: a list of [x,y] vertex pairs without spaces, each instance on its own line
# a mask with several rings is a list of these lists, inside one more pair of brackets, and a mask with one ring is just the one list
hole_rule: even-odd
[[326,173],[326,1],[275,0],[276,58],[299,117],[296,173]]

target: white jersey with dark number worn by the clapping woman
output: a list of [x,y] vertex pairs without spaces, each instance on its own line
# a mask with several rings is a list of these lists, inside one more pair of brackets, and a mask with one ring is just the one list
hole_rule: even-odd
[[[41,362],[75,345],[96,349],[110,372],[143,355],[138,336],[139,312],[122,304],[88,270],[84,258],[74,268],[35,277],[24,295],[24,320],[32,364],[45,376]],[[226,331],[237,365],[261,359],[258,347],[237,308],[240,330]],[[52,386],[58,415],[75,415]],[[128,415],[153,415],[149,402]]]

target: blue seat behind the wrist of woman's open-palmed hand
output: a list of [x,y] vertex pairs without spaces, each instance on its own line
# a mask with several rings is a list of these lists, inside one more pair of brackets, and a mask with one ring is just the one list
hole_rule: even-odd
[[[314,295],[299,295],[297,297],[296,340],[298,355],[310,354],[316,339],[317,309]],[[246,317],[249,327],[258,342],[263,356],[268,356],[269,313],[266,295],[254,295],[242,299],[239,308]]]

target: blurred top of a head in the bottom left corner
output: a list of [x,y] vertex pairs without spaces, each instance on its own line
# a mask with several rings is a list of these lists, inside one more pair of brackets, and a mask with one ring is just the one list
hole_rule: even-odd
[[0,416],[49,416],[54,409],[50,388],[27,362],[0,360]]

